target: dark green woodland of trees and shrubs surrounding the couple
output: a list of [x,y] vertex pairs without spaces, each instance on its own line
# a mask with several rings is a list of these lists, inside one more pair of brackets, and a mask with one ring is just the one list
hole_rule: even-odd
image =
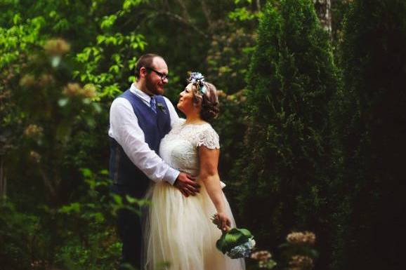
[[108,113],[149,52],[169,66],[174,104],[190,70],[221,90],[221,179],[258,249],[282,262],[287,234],[315,232],[312,264],[273,267],[402,267],[406,1],[0,10],[0,269],[117,267],[114,213],[148,202],[109,192]]

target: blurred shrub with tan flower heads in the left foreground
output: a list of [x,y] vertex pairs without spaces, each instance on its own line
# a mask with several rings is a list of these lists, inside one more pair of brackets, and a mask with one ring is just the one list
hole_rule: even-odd
[[[69,182],[63,172],[74,165],[67,156],[72,145],[83,148],[86,141],[76,141],[75,135],[91,133],[96,128],[95,117],[100,105],[93,101],[96,88],[80,86],[70,76],[70,59],[65,53],[70,45],[62,39],[49,40],[44,49],[31,50],[30,58],[22,56],[20,71],[8,74],[6,88],[13,89],[15,119],[6,125],[15,126],[18,147],[8,153],[11,161],[25,156],[27,163],[8,163],[19,170],[28,165],[28,174],[38,176],[44,188],[44,198],[56,205],[63,202],[61,191]],[[79,136],[80,138],[80,136]]]

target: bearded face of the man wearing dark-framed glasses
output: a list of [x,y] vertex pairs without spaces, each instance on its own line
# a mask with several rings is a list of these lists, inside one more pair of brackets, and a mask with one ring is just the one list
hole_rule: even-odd
[[[168,74],[168,66],[162,58],[154,58],[152,61],[152,69],[155,69],[160,74]],[[161,79],[161,76],[152,70],[145,76],[145,86],[147,90],[153,95],[163,95],[164,85],[168,83],[168,79]]]

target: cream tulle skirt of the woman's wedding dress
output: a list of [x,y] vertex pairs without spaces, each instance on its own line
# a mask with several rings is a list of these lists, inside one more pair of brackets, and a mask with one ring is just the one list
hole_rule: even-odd
[[[154,184],[144,222],[145,269],[243,270],[244,259],[230,259],[217,250],[221,231],[211,222],[216,208],[201,182],[200,193],[186,198],[166,182]],[[233,214],[225,200],[228,215]]]

